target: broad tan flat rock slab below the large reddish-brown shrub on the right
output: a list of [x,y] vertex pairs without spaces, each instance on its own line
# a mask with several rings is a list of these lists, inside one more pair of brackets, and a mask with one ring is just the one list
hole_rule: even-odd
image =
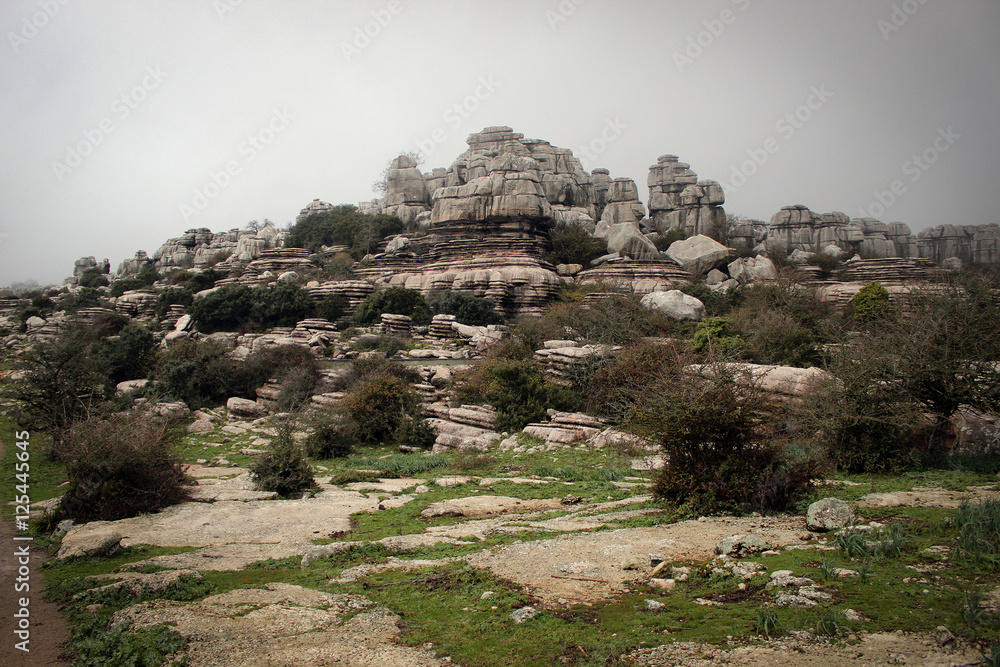
[[596,602],[648,580],[648,566],[625,570],[622,563],[648,564],[651,553],[671,562],[707,561],[715,545],[734,534],[755,533],[771,545],[783,546],[798,543],[802,528],[802,517],[682,521],[518,542],[467,560],[473,567],[527,587],[546,605],[558,604],[560,598]]

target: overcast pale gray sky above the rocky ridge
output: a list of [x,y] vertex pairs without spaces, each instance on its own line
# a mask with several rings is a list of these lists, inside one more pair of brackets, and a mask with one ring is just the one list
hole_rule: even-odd
[[643,199],[673,153],[764,220],[1000,218],[997,0],[3,0],[0,27],[0,285],[371,199],[489,125]]

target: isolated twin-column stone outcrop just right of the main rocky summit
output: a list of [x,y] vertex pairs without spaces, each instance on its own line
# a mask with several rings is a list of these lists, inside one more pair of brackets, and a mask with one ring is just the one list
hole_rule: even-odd
[[676,155],[661,155],[649,168],[649,217],[659,232],[682,229],[689,236],[717,238],[726,227],[726,195],[716,181],[699,181]]

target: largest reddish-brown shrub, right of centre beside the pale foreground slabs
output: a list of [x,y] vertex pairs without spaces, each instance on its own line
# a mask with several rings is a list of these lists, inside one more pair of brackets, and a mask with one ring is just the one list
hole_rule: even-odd
[[764,430],[775,407],[750,377],[725,365],[706,375],[677,373],[636,407],[632,429],[667,458],[654,495],[694,514],[793,506],[816,464]]

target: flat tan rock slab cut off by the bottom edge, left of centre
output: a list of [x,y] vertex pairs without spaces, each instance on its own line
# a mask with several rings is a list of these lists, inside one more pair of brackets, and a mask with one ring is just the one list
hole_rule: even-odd
[[118,612],[113,622],[171,625],[187,638],[192,667],[441,665],[431,651],[394,642],[400,620],[361,596],[275,583],[198,602],[144,602]]

